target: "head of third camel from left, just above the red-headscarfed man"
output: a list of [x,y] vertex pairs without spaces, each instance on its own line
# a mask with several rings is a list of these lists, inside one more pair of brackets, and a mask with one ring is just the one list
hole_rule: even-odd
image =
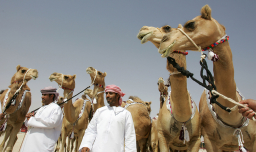
[[[94,84],[103,85],[103,87],[105,88],[105,80],[104,80],[104,78],[106,76],[106,72],[102,73],[101,71],[98,71],[98,70],[96,70],[95,68],[93,68],[91,66],[86,68],[86,72],[88,74],[90,74],[91,82],[93,82],[93,80],[95,78]],[[95,75],[96,75],[96,77],[95,77]]]

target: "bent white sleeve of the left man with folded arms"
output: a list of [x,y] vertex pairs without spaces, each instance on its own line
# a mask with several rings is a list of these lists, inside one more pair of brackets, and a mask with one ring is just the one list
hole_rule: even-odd
[[40,128],[53,128],[62,123],[62,111],[60,108],[55,108],[49,117],[34,117],[31,116],[27,121],[27,125]]

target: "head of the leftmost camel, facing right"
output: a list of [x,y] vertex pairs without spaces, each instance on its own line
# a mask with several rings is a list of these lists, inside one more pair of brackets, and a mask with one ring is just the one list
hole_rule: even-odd
[[20,65],[17,65],[16,67],[17,72],[12,76],[10,80],[10,84],[14,83],[15,81],[29,81],[31,78],[36,79],[38,77],[38,71],[37,69],[29,69],[27,67],[22,67]]

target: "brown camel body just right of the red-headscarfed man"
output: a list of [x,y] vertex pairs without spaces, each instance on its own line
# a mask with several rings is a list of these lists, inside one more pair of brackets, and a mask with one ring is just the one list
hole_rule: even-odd
[[129,96],[129,100],[126,101],[124,108],[130,111],[132,116],[136,133],[137,151],[143,152],[146,150],[146,141],[151,125],[148,107],[146,107],[146,103],[139,97]]

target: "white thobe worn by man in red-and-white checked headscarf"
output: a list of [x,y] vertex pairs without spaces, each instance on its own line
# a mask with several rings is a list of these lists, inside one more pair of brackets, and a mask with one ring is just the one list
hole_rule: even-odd
[[79,151],[82,147],[88,147],[90,152],[135,152],[136,135],[131,113],[121,106],[98,108],[85,130]]

